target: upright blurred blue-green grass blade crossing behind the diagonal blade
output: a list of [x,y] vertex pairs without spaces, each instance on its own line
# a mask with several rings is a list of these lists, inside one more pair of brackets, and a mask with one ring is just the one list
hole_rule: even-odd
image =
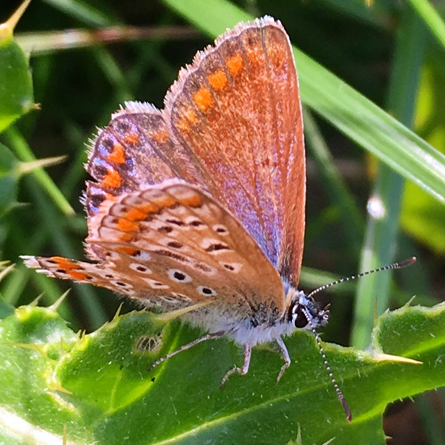
[[[389,109],[407,126],[412,124],[416,92],[425,51],[426,32],[412,10],[402,16],[391,81]],[[369,212],[368,225],[359,270],[371,270],[394,261],[404,180],[386,165],[379,165],[372,197],[382,205],[382,214]],[[389,304],[391,273],[372,274],[357,284],[352,343],[357,348],[368,346],[374,323],[374,305],[378,314]]]

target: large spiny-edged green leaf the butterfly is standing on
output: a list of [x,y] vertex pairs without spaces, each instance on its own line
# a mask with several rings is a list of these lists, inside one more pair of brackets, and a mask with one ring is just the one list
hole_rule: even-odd
[[[156,357],[200,334],[176,322],[163,325],[147,312],[116,317],[79,339],[54,309],[21,307],[0,322],[0,333],[0,419],[16,416],[29,426],[26,434],[44,432],[54,441],[66,426],[70,443],[286,444],[300,430],[304,444],[332,437],[336,444],[384,444],[387,403],[445,385],[444,304],[382,315],[372,352],[324,344],[352,423],[307,332],[286,339],[293,362],[278,385],[282,359],[263,347],[254,349],[248,375],[232,376],[222,389],[220,379],[242,362],[225,339],[147,372]],[[423,364],[388,360],[382,351]],[[1,422],[0,437],[31,442],[14,428]]]

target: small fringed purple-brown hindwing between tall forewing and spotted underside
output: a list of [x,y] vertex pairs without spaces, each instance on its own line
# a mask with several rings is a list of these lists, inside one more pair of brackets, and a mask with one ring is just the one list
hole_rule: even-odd
[[[88,233],[97,229],[95,216],[105,200],[141,186],[180,177],[205,188],[190,151],[172,141],[163,114],[151,104],[129,102],[115,113],[108,126],[92,141],[83,198],[88,215]],[[88,245],[90,258],[104,258],[97,246]]]

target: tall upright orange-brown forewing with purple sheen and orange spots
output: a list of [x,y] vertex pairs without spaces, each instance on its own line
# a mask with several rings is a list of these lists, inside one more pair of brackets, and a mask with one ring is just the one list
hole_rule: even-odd
[[296,286],[305,149],[296,68],[280,22],[239,24],[198,53],[166,95],[164,115],[211,194]]

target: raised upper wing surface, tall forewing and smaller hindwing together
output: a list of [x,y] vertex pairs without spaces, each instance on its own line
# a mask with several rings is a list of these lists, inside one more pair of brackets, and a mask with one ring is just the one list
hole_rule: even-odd
[[[305,149],[289,38],[270,17],[239,24],[181,70],[165,110],[129,103],[95,140],[88,216],[110,195],[179,177],[210,191],[298,284]],[[95,229],[88,220],[89,233]],[[99,248],[88,248],[92,258]]]

